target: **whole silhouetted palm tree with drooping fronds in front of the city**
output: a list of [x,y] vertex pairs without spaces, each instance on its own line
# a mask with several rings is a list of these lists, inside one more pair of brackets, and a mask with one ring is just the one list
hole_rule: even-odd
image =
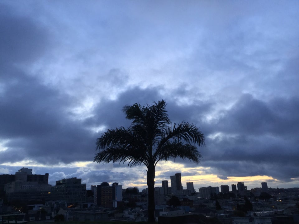
[[149,222],[155,222],[154,179],[159,161],[171,158],[188,159],[199,163],[197,145],[204,145],[204,135],[194,124],[171,124],[164,100],[153,105],[135,103],[125,106],[126,118],[132,120],[129,128],[107,129],[97,139],[99,152],[94,162],[128,162],[128,166],[145,165],[147,168]]

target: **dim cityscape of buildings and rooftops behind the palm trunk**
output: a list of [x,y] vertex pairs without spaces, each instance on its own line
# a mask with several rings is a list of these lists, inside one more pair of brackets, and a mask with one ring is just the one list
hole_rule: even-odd
[[[147,222],[148,189],[123,189],[121,183],[91,185],[77,177],[48,184],[49,174],[23,167],[0,175],[0,217],[16,221],[136,221]],[[299,188],[268,188],[266,182],[247,189],[244,182],[194,189],[181,173],[155,187],[155,218],[214,219],[218,223],[297,223]],[[186,187],[183,187],[185,185]],[[89,186],[88,186],[89,188]],[[189,220],[189,221],[187,221]],[[162,221],[160,221],[162,222]],[[191,223],[191,221],[190,221]],[[215,222],[216,223],[216,222]]]

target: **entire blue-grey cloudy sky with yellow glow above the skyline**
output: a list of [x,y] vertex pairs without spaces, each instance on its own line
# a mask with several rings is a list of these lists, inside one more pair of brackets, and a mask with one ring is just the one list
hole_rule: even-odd
[[[145,167],[96,164],[124,105],[165,99],[206,137],[199,165],[156,186],[299,187],[298,1],[1,1],[0,174],[146,187]],[[170,184],[170,183],[169,183]],[[230,186],[231,189],[231,186]]]

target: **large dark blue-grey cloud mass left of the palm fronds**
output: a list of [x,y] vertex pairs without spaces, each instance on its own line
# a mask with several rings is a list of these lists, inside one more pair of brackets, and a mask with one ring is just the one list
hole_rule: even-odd
[[35,78],[26,75],[14,78],[0,98],[0,133],[2,138],[9,139],[5,145],[9,150],[0,152],[2,161],[31,157],[45,164],[90,160],[82,151],[94,147],[93,135],[66,112],[74,99]]

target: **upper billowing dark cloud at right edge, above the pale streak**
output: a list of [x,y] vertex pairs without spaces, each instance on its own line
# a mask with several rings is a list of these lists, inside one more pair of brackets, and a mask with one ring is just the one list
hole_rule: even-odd
[[[285,135],[298,131],[298,98],[273,99],[270,102],[244,94],[217,122],[219,131],[257,135],[271,133]],[[291,114],[290,114],[291,113]]]

